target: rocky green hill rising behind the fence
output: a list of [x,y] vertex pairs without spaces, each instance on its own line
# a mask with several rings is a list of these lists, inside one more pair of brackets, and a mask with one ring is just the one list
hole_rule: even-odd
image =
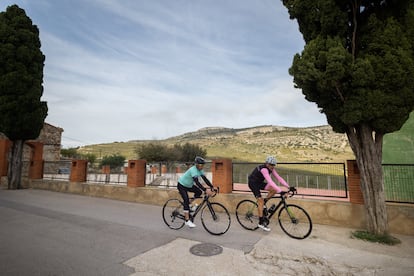
[[306,128],[258,126],[251,128],[206,127],[164,140],[135,140],[87,145],[81,153],[93,153],[98,158],[121,154],[137,159],[135,149],[143,143],[166,145],[192,143],[207,150],[207,157],[231,158],[237,161],[262,162],[275,155],[281,162],[344,162],[354,159],[345,134],[332,131],[330,126]]

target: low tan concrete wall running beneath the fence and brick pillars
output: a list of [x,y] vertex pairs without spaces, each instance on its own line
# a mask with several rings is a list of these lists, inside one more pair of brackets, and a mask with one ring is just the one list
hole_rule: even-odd
[[[169,198],[179,197],[176,189],[156,187],[127,187],[119,185],[91,184],[53,180],[30,180],[28,186],[56,192],[162,206]],[[213,200],[222,203],[230,213],[235,213],[237,203],[252,199],[250,194],[219,194]],[[309,213],[315,224],[325,224],[365,229],[364,205],[331,200],[290,199]],[[410,204],[387,204],[389,230],[391,233],[414,235],[414,206]],[[237,223],[233,220],[232,223]]]

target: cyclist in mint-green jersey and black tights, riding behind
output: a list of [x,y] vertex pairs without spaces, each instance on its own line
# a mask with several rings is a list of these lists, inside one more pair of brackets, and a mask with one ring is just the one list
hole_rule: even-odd
[[[196,227],[196,225],[190,220],[190,198],[188,192],[194,193],[194,198],[200,198],[201,194],[206,192],[208,195],[213,195],[213,185],[204,175],[203,166],[206,161],[197,156],[194,160],[194,166],[189,168],[179,179],[177,189],[183,198],[184,202],[184,216],[185,224],[188,227]],[[206,185],[203,185],[198,179],[201,177]],[[210,188],[210,189],[208,189]],[[194,198],[191,200],[193,201]]]

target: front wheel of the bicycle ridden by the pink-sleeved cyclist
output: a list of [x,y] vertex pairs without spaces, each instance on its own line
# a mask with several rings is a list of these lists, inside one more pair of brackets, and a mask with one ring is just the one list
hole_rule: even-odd
[[288,204],[279,211],[279,224],[283,232],[294,239],[305,239],[312,232],[312,220],[300,206]]

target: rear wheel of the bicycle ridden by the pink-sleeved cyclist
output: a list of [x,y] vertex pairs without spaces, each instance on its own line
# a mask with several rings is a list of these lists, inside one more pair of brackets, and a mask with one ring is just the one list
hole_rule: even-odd
[[243,228],[256,230],[259,224],[257,203],[249,199],[240,201],[236,207],[236,218]]

